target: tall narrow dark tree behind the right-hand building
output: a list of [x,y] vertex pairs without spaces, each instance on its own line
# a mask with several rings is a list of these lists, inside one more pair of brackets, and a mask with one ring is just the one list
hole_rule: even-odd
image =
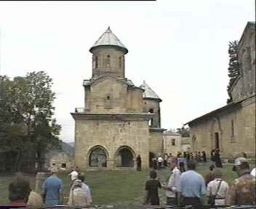
[[233,101],[232,95],[231,95],[231,88],[233,84],[235,83],[235,79],[238,78],[240,74],[240,64],[238,62],[238,41],[232,41],[228,45],[228,54],[230,57],[229,64],[228,64],[228,77],[230,77],[227,90],[228,90],[228,100],[227,103],[230,103]]

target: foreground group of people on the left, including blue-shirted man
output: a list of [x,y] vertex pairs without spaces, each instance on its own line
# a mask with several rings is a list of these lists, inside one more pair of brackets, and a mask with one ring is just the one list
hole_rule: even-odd
[[[85,176],[78,167],[68,174],[70,176],[70,192],[68,205],[92,205],[92,195],[89,186],[85,183]],[[41,194],[31,190],[31,185],[21,173],[9,185],[9,200],[11,206],[27,208],[49,208],[55,205],[64,205],[64,185],[58,178],[58,168],[50,169],[50,176],[43,182]]]

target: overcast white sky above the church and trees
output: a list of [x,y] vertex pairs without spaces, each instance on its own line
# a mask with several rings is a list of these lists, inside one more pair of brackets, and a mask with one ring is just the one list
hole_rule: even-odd
[[255,21],[253,0],[1,1],[0,74],[48,72],[60,138],[72,142],[89,49],[110,26],[129,50],[126,77],[162,98],[162,128],[181,128],[226,104],[228,42],[247,21]]

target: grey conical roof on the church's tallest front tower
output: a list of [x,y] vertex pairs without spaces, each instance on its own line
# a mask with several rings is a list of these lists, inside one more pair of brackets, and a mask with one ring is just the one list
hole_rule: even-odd
[[95,42],[95,44],[90,48],[90,52],[92,52],[93,48],[98,46],[117,46],[121,47],[125,54],[127,54],[128,50],[127,47],[125,47],[119,38],[117,38],[114,33],[112,33],[112,30],[110,30],[110,27],[107,28],[105,33],[103,33],[100,38]]

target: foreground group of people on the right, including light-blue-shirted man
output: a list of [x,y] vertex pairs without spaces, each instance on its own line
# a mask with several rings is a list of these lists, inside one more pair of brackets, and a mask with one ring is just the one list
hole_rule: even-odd
[[[232,186],[223,179],[218,166],[211,165],[209,174],[202,176],[196,172],[197,162],[187,162],[187,171],[181,172],[177,157],[169,157],[171,174],[167,182],[160,182],[157,170],[150,171],[146,181],[144,204],[159,205],[159,188],[166,191],[166,205],[256,205],[255,169],[245,157],[235,159],[235,171],[238,179]],[[206,202],[207,200],[207,202]]]

